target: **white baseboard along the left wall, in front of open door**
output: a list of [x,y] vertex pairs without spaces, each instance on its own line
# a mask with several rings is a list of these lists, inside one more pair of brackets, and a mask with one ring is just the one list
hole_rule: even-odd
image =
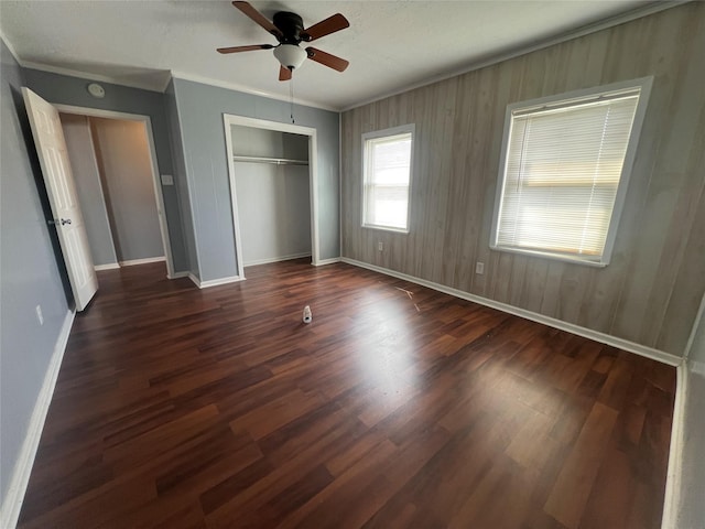
[[0,527],[13,528],[18,523],[20,509],[22,508],[22,501],[24,500],[24,493],[26,492],[26,486],[30,482],[30,474],[32,473],[32,466],[34,464],[34,457],[36,456],[36,449],[40,445],[42,430],[44,429],[44,421],[46,420],[46,413],[48,412],[48,407],[52,402],[54,387],[56,386],[56,379],[58,378],[58,370],[62,367],[64,352],[66,350],[68,335],[70,334],[70,327],[74,324],[75,316],[76,311],[74,310],[66,313],[58,337],[56,338],[52,359],[50,360],[48,368],[44,375],[44,382],[42,384],[40,393],[36,397],[36,402],[34,403],[34,410],[32,411],[24,442],[20,449],[20,456],[14,464],[12,475],[10,476],[10,485],[4,500],[2,501]]

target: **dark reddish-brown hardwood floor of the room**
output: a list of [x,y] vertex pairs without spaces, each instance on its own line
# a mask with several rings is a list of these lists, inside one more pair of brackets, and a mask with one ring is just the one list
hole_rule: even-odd
[[347,264],[164,274],[99,273],[21,527],[660,527],[674,368]]

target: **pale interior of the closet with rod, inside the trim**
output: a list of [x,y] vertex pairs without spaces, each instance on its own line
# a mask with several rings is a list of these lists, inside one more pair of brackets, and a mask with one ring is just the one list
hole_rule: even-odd
[[308,137],[230,130],[245,266],[311,256]]

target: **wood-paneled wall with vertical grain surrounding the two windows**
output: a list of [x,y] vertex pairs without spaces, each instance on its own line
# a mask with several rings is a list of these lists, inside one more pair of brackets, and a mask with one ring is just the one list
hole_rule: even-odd
[[[612,262],[490,250],[507,105],[648,75]],[[705,291],[705,3],[355,108],[341,123],[344,257],[683,354]],[[361,228],[361,134],[404,123],[416,126],[411,233]]]

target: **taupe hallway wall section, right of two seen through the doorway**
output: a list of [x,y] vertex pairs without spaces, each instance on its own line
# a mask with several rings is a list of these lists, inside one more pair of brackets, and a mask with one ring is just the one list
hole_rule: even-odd
[[144,123],[90,118],[119,261],[163,257]]

